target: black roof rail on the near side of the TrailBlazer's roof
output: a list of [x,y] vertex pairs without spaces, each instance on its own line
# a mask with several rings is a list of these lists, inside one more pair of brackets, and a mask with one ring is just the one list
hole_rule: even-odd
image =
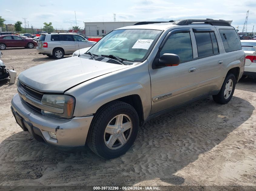
[[[170,21],[173,22],[173,21]],[[228,21],[214,19],[182,19],[175,21],[176,25],[189,25],[191,23],[206,23],[215,26],[231,26]]]

